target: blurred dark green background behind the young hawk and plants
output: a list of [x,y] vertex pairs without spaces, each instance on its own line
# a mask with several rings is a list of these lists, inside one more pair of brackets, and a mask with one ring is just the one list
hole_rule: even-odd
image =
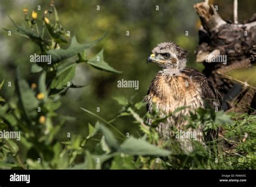
[[[130,98],[136,95],[135,102],[143,99],[147,93],[150,82],[159,67],[155,64],[146,64],[146,58],[151,54],[151,49],[159,42],[174,41],[181,47],[190,51],[188,67],[202,70],[203,66],[194,62],[194,50],[198,44],[197,29],[200,25],[193,4],[200,1],[175,0],[175,1],[149,1],[149,0],[109,0],[109,1],[55,1],[60,21],[71,35],[76,35],[80,43],[93,41],[110,31],[107,37],[93,48],[87,55],[92,57],[104,48],[105,61],[113,68],[123,71],[123,74],[105,73],[93,69],[87,64],[79,64],[76,68],[75,84],[88,84],[80,89],[70,89],[62,98],[60,114],[75,117],[76,120],[66,123],[58,134],[59,137],[66,132],[87,133],[87,124],[95,124],[96,118],[80,110],[97,113],[100,117],[110,120],[120,110],[113,97],[124,96]],[[7,12],[16,23],[24,20],[23,8],[29,9],[29,14],[35,10],[42,15],[49,8],[50,1],[1,1],[0,23],[1,27],[14,28]],[[218,6],[220,16],[225,20],[233,19],[233,1],[210,1]],[[256,1],[238,1],[239,21],[250,18],[256,7]],[[41,11],[37,6],[41,5]],[[97,5],[100,10],[97,11]],[[156,10],[159,6],[159,10]],[[129,31],[129,36],[126,35]],[[185,32],[188,31],[188,35]],[[39,48],[28,39],[0,31],[0,80],[12,82],[12,87],[5,84],[1,95],[8,100],[14,95],[14,73],[19,65],[22,74],[33,83],[30,75],[29,56],[39,53]],[[75,60],[75,59],[70,59]],[[118,88],[118,80],[138,80],[139,89]],[[97,112],[99,107],[100,112]],[[146,109],[142,111],[145,113]],[[138,136],[138,126],[132,123],[132,118],[123,117],[114,122],[114,125],[123,133]]]

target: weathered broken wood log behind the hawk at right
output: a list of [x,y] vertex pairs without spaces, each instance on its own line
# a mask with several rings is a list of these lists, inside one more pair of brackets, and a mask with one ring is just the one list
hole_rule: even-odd
[[[197,62],[203,62],[203,73],[213,81],[223,97],[235,82],[240,82],[240,94],[229,104],[229,109],[249,112],[253,98],[256,98],[255,87],[248,87],[226,73],[248,68],[256,61],[256,13],[244,23],[235,24],[223,20],[208,1],[195,4],[194,9],[201,20]],[[218,56],[226,58],[226,62],[223,59],[218,63],[214,61]]]

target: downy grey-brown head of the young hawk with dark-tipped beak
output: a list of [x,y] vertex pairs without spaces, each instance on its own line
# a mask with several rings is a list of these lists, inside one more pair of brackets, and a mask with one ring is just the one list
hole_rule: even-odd
[[163,68],[183,69],[186,67],[187,51],[174,42],[164,42],[153,48],[152,54],[147,57],[147,63],[154,62]]

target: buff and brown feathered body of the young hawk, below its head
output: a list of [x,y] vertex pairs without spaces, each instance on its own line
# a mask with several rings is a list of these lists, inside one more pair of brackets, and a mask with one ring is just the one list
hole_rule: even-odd
[[[185,68],[177,72],[165,69],[159,71],[151,82],[145,101],[147,111],[152,111],[152,106],[155,104],[162,117],[179,107],[185,107],[184,110],[174,114],[175,118],[168,118],[165,123],[160,123],[157,127],[159,134],[164,139],[168,139],[171,136],[171,125],[179,129],[183,129],[186,125],[183,115],[195,112],[199,107],[204,108],[206,104],[220,110],[221,96],[214,89],[211,81],[196,69]],[[203,136],[198,140],[203,141],[202,138]]]

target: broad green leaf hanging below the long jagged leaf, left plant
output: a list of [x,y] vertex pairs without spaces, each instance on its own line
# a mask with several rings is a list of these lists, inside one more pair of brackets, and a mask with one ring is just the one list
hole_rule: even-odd
[[68,82],[71,83],[75,76],[76,63],[72,63],[64,69],[57,70],[57,75],[51,83],[52,89],[62,89],[67,87]]

